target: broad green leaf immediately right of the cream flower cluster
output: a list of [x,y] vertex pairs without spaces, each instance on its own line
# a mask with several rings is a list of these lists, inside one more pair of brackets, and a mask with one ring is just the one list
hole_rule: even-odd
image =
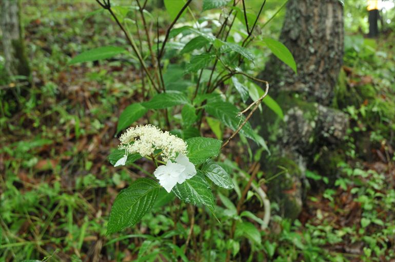
[[209,137],[193,137],[186,140],[189,161],[195,165],[220,154],[221,141]]

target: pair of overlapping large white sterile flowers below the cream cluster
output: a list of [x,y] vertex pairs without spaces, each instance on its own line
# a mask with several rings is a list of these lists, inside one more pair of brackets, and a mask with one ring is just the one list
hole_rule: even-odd
[[173,163],[169,160],[166,165],[158,166],[153,172],[168,193],[170,193],[176,183],[184,183],[186,179],[196,175],[195,166],[189,162],[185,155],[180,154],[175,161],[176,163]]

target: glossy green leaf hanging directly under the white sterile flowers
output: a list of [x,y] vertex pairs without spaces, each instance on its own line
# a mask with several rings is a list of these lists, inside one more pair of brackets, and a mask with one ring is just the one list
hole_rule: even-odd
[[186,203],[204,204],[214,212],[214,197],[204,176],[197,173],[182,184],[176,184],[172,190],[174,194]]

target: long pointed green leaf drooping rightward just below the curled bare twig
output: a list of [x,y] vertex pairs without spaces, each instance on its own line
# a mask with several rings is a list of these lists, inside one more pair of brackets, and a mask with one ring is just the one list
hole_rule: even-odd
[[[205,106],[205,109],[210,116],[219,119],[233,131],[237,130],[245,120],[244,115],[239,115],[239,109],[229,102],[209,103]],[[269,152],[265,140],[254,132],[249,122],[242,127],[240,134],[254,140]]]

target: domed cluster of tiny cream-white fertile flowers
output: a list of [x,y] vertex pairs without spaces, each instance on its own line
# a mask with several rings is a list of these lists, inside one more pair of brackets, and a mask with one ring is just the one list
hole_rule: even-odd
[[[155,149],[162,150],[163,161],[175,159],[177,153],[187,154],[187,144],[181,138],[163,132],[153,125],[140,125],[130,127],[120,137],[120,149],[126,149],[129,153],[139,153],[142,156],[150,156]],[[134,143],[130,143],[133,142]]]

